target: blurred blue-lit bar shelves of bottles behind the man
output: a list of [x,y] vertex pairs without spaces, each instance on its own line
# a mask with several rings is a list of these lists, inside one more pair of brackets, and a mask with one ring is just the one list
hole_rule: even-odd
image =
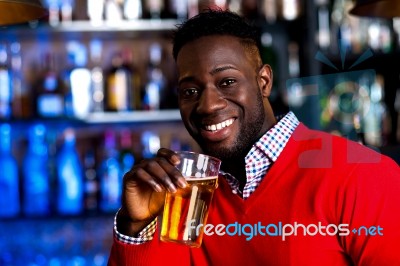
[[199,151],[170,40],[205,7],[260,27],[277,114],[400,164],[396,17],[351,15],[351,0],[42,4],[48,16],[0,28],[0,265],[106,265],[123,174],[160,147]]

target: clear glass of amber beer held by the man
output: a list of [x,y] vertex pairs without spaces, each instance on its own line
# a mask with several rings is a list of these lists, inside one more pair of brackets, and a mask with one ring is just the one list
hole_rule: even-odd
[[177,154],[180,163],[176,167],[188,186],[166,193],[160,239],[200,247],[213,193],[218,186],[221,161],[194,152],[178,151]]

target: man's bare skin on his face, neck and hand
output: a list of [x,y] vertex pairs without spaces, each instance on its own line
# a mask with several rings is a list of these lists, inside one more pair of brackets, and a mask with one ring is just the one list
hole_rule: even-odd
[[[244,157],[276,124],[268,97],[272,71],[259,55],[233,36],[206,36],[192,41],[177,57],[179,109],[190,135],[204,153],[222,160],[222,170],[246,182]],[[135,236],[164,205],[165,191],[186,181],[174,167],[179,157],[161,148],[153,159],[124,176],[118,231]]]

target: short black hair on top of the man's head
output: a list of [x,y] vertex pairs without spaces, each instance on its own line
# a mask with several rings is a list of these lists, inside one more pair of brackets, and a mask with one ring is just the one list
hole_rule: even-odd
[[229,10],[206,9],[178,25],[173,33],[172,53],[176,61],[182,47],[200,37],[230,35],[242,39],[249,46],[256,46],[260,53],[260,29],[239,14]]

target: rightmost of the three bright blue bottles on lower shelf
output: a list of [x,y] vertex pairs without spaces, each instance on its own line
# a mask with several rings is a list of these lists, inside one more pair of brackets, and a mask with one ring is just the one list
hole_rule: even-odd
[[57,156],[57,212],[77,215],[83,211],[83,166],[76,150],[73,129],[64,131],[64,143]]

